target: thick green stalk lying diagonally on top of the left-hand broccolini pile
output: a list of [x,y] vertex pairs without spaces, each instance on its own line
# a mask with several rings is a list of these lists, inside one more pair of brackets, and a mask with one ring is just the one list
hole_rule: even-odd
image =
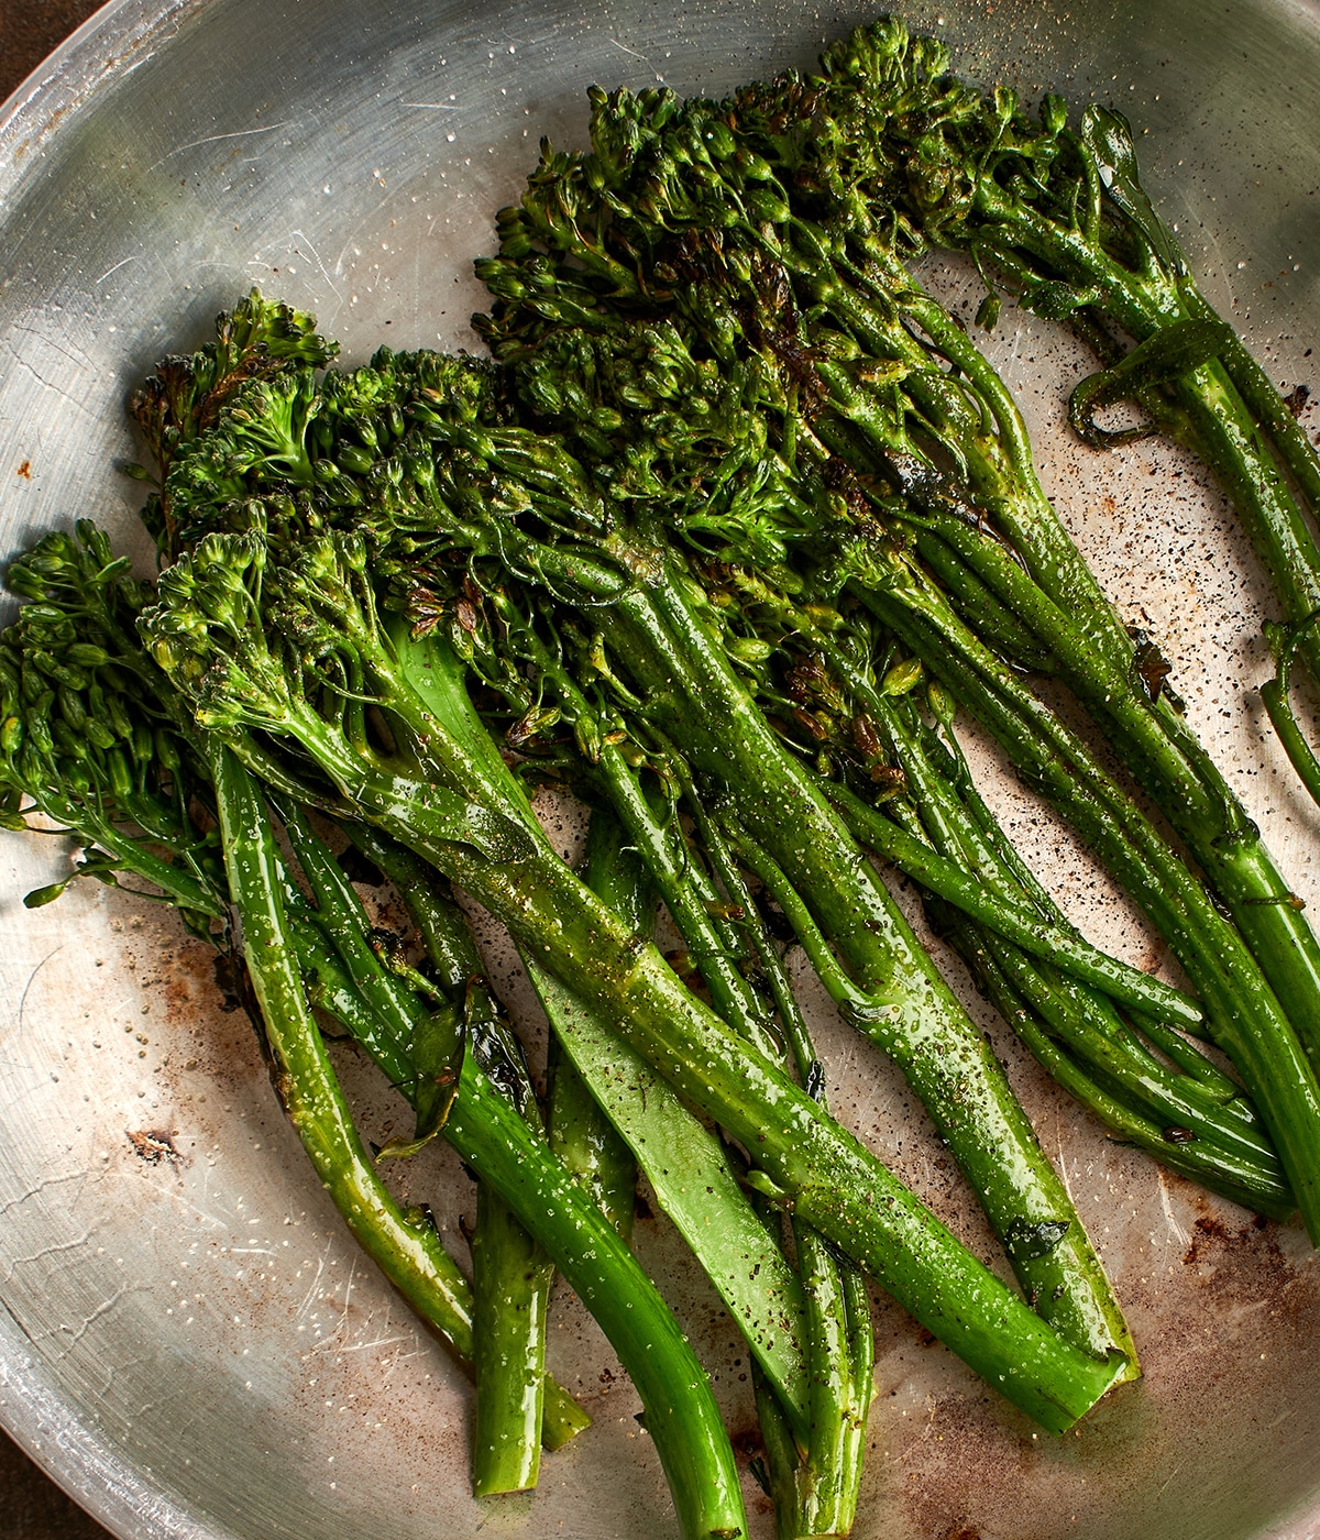
[[[430,699],[451,699],[462,688],[456,661],[434,638],[416,645],[436,679]],[[399,704],[385,699],[391,713]],[[477,772],[471,756],[450,750],[462,724],[447,718],[442,732],[441,719],[419,711],[430,727],[430,752],[445,755],[436,773],[450,782],[471,775],[471,795],[511,812],[516,795]],[[481,730],[470,705],[467,713]],[[695,1001],[655,946],[642,944],[601,906],[544,836],[514,859],[488,856],[456,841],[447,822],[428,829],[427,805],[407,781],[396,790],[388,778],[364,779],[360,762],[343,759],[323,724],[299,713],[285,730],[296,730],[331,776],[348,772],[340,792],[354,795],[373,822],[437,865],[502,919],[530,955],[544,958],[573,995],[616,1021],[675,1089],[755,1152],[781,1201],[1043,1426],[1069,1426],[1123,1372],[1126,1357],[1098,1361],[1070,1346],[970,1258],[852,1135]]]

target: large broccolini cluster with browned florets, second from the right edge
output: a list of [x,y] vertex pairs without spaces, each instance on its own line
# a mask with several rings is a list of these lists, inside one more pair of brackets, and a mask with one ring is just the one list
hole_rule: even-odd
[[[1168,939],[1315,1234],[1320,947],[1041,493],[1006,387],[906,271],[853,99],[795,74],[725,103],[598,94],[591,151],[547,148],[501,216],[481,330],[618,499],[667,487],[684,541],[826,616],[815,650],[866,607],[1000,738]],[[1095,713],[1232,919],[1024,668]]]

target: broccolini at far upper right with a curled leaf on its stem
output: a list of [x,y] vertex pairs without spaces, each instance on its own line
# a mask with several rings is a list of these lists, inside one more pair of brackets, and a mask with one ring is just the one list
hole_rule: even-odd
[[[1106,448],[1164,433],[1214,471],[1281,607],[1281,624],[1266,627],[1278,675],[1261,696],[1320,801],[1320,761],[1288,698],[1295,654],[1312,679],[1320,670],[1320,457],[1201,294],[1141,186],[1127,120],[1087,106],[1070,123],[1057,95],[1032,120],[1015,92],[983,95],[956,80],[949,51],[893,17],[836,43],[821,63],[812,112],[839,125],[867,203],[901,214],[913,237],[973,257],[989,288],[983,325],[995,323],[1003,283],[1095,353],[1101,368],[1069,402],[1078,434]],[[1144,422],[1103,428],[1097,411],[1118,400],[1138,405]]]

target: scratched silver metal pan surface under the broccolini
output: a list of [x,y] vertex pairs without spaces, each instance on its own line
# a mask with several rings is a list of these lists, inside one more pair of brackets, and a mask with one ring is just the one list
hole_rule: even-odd
[[[462,345],[490,216],[516,196],[539,134],[579,140],[588,82],[718,91],[809,62],[863,14],[753,0],[106,8],[0,114],[0,547],[79,514],[134,539],[134,487],[112,470],[136,453],[125,393],[246,285],[313,306],[350,359],[382,337]],[[947,34],[966,72],[1115,99],[1149,126],[1149,185],[1212,297],[1280,382],[1306,379],[1320,331],[1312,5],[1229,0],[1214,26],[1191,0],[1070,12],[950,0],[910,14]],[[964,274],[930,277],[975,305]],[[1314,808],[1280,773],[1249,693],[1266,673],[1263,591],[1240,537],[1174,451],[1100,459],[1066,439],[1060,391],[1084,363],[1047,328],[1007,316],[992,346],[1023,391],[1049,490],[1124,616],[1164,642],[1197,725],[1315,901]],[[1158,966],[1075,842],[993,755],[978,758],[1087,932]],[[568,822],[565,847],[571,835]],[[0,841],[0,1421],[122,1535],[670,1534],[636,1401],[571,1301],[551,1357],[596,1426],[547,1463],[534,1503],[473,1503],[462,1381],[354,1257],[273,1109],[250,1029],[217,1009],[208,958],[168,916],[103,889],[25,912],[22,893],[66,859],[59,841]],[[488,939],[536,1038],[508,955]],[[984,1247],[901,1086],[806,992],[835,1106]],[[1104,1247],[1146,1380],[1075,1435],[1037,1438],[881,1304],[856,1534],[1315,1535],[1320,1269],[1302,1237],[1255,1227],[1106,1144],[1000,1043]],[[380,1137],[400,1109],[343,1070]],[[404,1180],[451,1230],[470,1206],[444,1153]],[[727,1321],[662,1226],[642,1224],[638,1244],[735,1429],[749,1428]],[[749,1498],[767,1535],[750,1486]]]

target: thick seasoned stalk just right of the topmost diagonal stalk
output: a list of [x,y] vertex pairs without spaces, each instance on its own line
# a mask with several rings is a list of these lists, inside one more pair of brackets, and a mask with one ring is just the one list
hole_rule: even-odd
[[[676,579],[616,605],[648,711],[695,768],[727,788],[738,818],[782,867],[858,978],[849,1016],[903,1069],[1007,1244],[1015,1227],[1066,1230],[1044,1255],[1012,1257],[1047,1320],[1091,1352],[1131,1352],[1121,1312],[1070,1200],[995,1055],[867,869],[855,841],[729,670]],[[616,638],[619,644],[619,638]],[[1135,1363],[1135,1354],[1132,1354]]]

